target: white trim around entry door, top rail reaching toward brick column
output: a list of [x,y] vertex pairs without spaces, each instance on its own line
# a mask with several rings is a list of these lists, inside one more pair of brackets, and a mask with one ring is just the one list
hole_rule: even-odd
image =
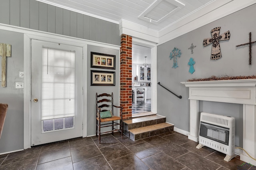
[[31,148],[31,39],[63,43],[83,48],[83,130],[82,137],[87,136],[87,45],[96,45],[120,50],[119,45],[112,45],[69,36],[26,31],[24,33],[24,149]]

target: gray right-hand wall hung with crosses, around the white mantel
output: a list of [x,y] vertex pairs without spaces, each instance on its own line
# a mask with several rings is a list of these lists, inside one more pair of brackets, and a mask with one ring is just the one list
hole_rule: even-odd
[[[256,18],[251,14],[254,13],[256,5],[249,6],[230,14],[224,18],[216,20],[210,24],[202,26],[187,34],[184,34],[174,40],[170,40],[157,47],[157,81],[162,85],[182,95],[182,99],[178,99],[171,93],[158,85],[157,87],[157,103],[160,115],[166,116],[166,121],[173,123],[175,127],[182,130],[190,131],[189,116],[189,100],[188,88],[180,82],[187,81],[192,78],[205,78],[212,75],[222,76],[238,76],[238,75],[254,75],[256,73],[256,46],[252,47],[252,65],[248,65],[248,46],[236,47],[238,44],[249,42],[248,33],[252,32],[252,41],[256,41]],[[228,41],[220,42],[222,58],[218,60],[210,60],[212,44],[203,47],[204,38],[211,37],[211,30],[216,27],[220,28],[220,34],[230,31],[231,37]],[[188,49],[193,43],[196,45],[194,53]],[[172,68],[173,59],[170,60],[169,55],[174,47],[181,49],[182,55],[178,58],[179,67]],[[192,57],[196,62],[194,65],[195,72],[188,72],[188,61]],[[236,145],[242,146],[242,105],[203,102],[200,103],[199,111],[207,111],[222,115],[233,115],[236,118]],[[236,109],[235,109],[236,108]],[[238,137],[239,136],[239,137]]]

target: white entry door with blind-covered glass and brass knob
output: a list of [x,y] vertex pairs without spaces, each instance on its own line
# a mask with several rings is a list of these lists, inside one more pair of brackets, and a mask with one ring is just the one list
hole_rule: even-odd
[[82,136],[82,47],[31,40],[31,146]]

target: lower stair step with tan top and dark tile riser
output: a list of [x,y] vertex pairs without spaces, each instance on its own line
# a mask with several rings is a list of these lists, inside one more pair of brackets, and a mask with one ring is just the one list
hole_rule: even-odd
[[166,133],[172,131],[174,125],[169,123],[159,123],[156,125],[150,125],[146,127],[139,127],[129,130],[130,139],[132,140],[140,140],[143,138],[147,138],[150,136],[155,136],[158,134]]

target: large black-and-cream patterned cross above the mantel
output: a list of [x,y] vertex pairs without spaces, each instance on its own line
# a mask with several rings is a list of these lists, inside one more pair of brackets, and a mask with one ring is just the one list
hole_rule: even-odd
[[212,38],[206,38],[204,39],[204,47],[206,45],[209,45],[212,43],[212,55],[211,55],[211,59],[220,59],[221,58],[221,52],[220,52],[220,44],[219,41],[223,41],[223,40],[229,40],[230,38],[230,32],[224,32],[223,34],[220,34],[220,27],[216,27],[214,29],[212,29]]

